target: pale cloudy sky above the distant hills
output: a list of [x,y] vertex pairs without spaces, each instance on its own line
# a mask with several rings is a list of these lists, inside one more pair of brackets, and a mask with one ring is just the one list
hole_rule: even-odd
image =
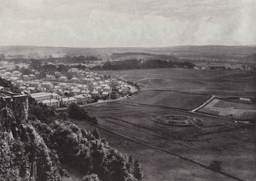
[[0,0],[0,45],[256,45],[256,1]]

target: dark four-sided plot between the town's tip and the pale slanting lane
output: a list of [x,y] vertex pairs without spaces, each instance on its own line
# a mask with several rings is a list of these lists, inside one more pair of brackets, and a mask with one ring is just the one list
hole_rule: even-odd
[[209,97],[210,95],[207,94],[188,94],[186,92],[175,91],[141,91],[138,95],[122,101],[126,103],[193,110],[193,108],[202,105]]

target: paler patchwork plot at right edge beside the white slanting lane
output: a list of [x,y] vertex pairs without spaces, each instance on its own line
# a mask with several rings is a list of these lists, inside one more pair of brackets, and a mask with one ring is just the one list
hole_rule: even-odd
[[220,115],[228,119],[256,120],[256,104],[237,103],[214,98],[198,112]]

